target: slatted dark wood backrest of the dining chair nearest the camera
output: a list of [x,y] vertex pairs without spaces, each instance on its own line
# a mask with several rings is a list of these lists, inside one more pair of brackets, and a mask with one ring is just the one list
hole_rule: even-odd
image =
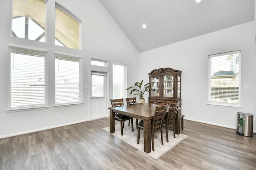
[[154,118],[152,121],[152,132],[162,129],[167,107],[167,104],[155,107]]

